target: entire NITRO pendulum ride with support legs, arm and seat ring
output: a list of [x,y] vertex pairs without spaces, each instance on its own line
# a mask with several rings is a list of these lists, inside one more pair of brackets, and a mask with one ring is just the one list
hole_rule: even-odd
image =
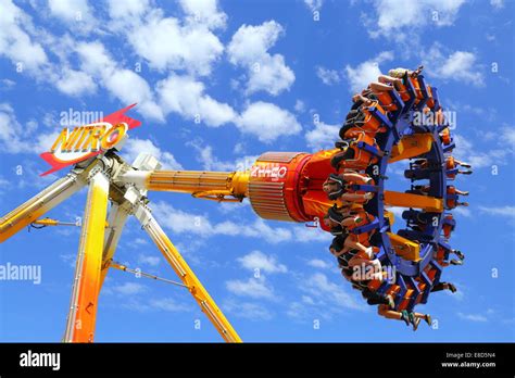
[[[463,172],[450,155],[454,142],[437,89],[426,84],[419,71],[404,71],[397,78],[386,76],[379,81],[353,98],[335,149],[266,152],[246,172],[162,171],[161,164],[145,153],[133,163],[125,162],[118,151],[127,130],[139,126],[125,115],[134,105],[98,123],[72,131],[65,128],[41,156],[52,165],[46,174],[73,165],[72,169],[3,216],[0,241],[32,224],[59,224],[41,216],[89,187],[65,342],[93,341],[98,297],[105,276],[111,267],[126,269],[113,257],[130,215],[139,220],[224,340],[241,341],[153,217],[148,191],[190,193],[218,202],[247,198],[262,218],[315,222],[336,236],[331,252],[343,269],[352,266],[346,266],[346,254],[339,252],[344,250],[347,237],[353,245],[372,251],[370,261],[394,270],[394,279],[376,277],[357,282],[347,276],[354,288],[363,294],[368,290],[376,297],[388,297],[391,311],[412,313],[442,284],[449,255],[456,253],[448,244],[455,226],[449,211],[461,204],[457,193],[462,192],[449,180]],[[420,114],[434,122],[416,122]],[[387,167],[402,160],[410,161],[404,172],[409,189],[387,190]],[[397,234],[390,206],[405,207],[405,226]],[[355,254],[356,249],[351,251]]]

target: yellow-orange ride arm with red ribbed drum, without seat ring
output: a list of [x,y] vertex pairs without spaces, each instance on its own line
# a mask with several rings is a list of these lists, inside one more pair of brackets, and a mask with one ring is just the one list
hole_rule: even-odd
[[118,180],[216,201],[249,198],[262,218],[303,223],[321,219],[332,205],[322,184],[334,172],[330,158],[336,151],[265,152],[244,172],[131,169]]

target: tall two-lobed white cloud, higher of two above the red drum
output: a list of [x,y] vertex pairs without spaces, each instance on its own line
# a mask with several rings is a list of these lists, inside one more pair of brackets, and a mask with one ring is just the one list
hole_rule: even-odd
[[233,36],[227,54],[233,64],[247,68],[247,93],[264,90],[277,96],[293,84],[296,75],[285,58],[268,53],[282,34],[282,26],[268,21],[259,26],[242,25]]

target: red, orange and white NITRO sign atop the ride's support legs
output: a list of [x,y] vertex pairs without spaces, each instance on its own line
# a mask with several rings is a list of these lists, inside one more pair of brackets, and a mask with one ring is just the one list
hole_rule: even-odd
[[134,105],[136,104],[118,110],[89,125],[76,126],[73,129],[63,128],[50,151],[40,155],[52,166],[41,176],[83,162],[116,147],[129,129],[141,124],[125,115]]

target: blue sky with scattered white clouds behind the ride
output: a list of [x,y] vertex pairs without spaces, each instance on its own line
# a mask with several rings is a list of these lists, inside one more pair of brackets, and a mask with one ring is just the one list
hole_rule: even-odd
[[[0,0],[0,212],[64,174],[39,177],[47,166],[38,154],[68,109],[109,114],[138,102],[131,115],[142,126],[125,158],[147,151],[168,168],[234,171],[265,151],[330,148],[352,93],[380,72],[423,63],[443,106],[456,112],[455,155],[475,168],[457,180],[470,190],[452,238],[465,265],[443,276],[459,293],[432,294],[417,307],[438,319],[437,329],[413,332],[378,317],[342,280],[318,230],[261,220],[248,203],[184,194],[150,193],[152,209],[244,341],[514,341],[513,8],[500,0]],[[391,166],[392,188],[407,185],[400,172]],[[85,196],[48,215],[74,220]],[[1,264],[42,269],[40,285],[0,281],[0,340],[61,339],[78,235],[23,230],[0,245]],[[116,260],[175,279],[135,220]],[[96,340],[221,338],[185,290],[111,272]]]

